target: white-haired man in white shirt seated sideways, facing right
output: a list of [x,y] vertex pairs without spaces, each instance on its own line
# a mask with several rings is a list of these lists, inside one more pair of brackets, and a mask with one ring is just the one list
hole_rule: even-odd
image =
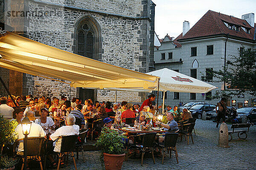
[[[74,125],[76,122],[76,118],[73,114],[68,114],[65,119],[66,126],[62,126],[58,128],[54,133],[51,134],[49,140],[55,141],[60,136],[70,136],[70,135],[79,135],[79,125]],[[53,143],[54,151],[61,151],[61,139],[58,139]]]

